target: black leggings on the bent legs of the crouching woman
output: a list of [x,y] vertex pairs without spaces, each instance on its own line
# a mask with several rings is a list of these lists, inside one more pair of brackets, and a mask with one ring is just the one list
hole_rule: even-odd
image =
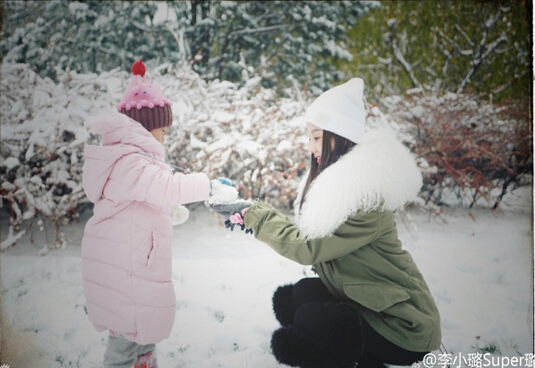
[[280,363],[293,367],[411,365],[426,354],[385,339],[357,309],[334,298],[319,278],[279,287],[273,295],[273,310],[283,326],[273,333],[273,354]]

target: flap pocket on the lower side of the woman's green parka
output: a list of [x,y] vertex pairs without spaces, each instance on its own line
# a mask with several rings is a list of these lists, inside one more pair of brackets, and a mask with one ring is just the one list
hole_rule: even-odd
[[396,285],[345,283],[344,292],[349,298],[374,312],[382,312],[410,299],[409,294]]

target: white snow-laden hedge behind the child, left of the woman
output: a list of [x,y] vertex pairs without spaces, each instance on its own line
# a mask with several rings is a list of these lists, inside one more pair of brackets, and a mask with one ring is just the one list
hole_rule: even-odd
[[[98,139],[84,122],[114,108],[131,78],[118,70],[96,75],[58,69],[58,76],[54,83],[26,64],[2,64],[1,198],[10,211],[2,249],[44,221],[55,225],[55,246],[62,244],[61,225],[89,204],[81,180],[83,147]],[[307,104],[299,87],[280,99],[258,78],[243,87],[206,82],[187,63],[161,65],[147,77],[173,101],[174,126],[165,142],[170,163],[229,177],[243,197],[291,204],[307,156],[305,126],[294,119]]]

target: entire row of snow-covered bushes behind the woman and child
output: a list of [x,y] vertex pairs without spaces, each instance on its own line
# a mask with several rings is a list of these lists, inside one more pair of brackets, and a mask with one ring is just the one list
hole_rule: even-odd
[[[114,108],[130,73],[58,69],[55,83],[26,64],[6,61],[1,72],[0,195],[10,219],[0,249],[45,221],[55,225],[54,246],[60,246],[61,225],[90,205],[81,180],[83,147],[98,138],[84,122]],[[258,77],[243,85],[207,82],[185,62],[163,64],[147,77],[173,101],[173,127],[165,141],[169,163],[228,177],[243,198],[292,207],[308,167],[302,116],[312,99],[298,82],[282,98]],[[384,114],[366,105],[367,125],[390,125],[416,154],[425,205],[456,204],[456,197],[463,205],[483,198],[497,206],[508,190],[531,180],[529,110],[522,106],[452,94],[408,94],[382,102]]]

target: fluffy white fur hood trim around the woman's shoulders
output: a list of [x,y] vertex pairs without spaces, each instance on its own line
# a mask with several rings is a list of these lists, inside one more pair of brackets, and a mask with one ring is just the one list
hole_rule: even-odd
[[366,132],[361,143],[325,169],[310,185],[299,213],[307,176],[294,208],[297,226],[307,239],[332,235],[357,212],[400,209],[422,186],[414,157],[390,128]]

